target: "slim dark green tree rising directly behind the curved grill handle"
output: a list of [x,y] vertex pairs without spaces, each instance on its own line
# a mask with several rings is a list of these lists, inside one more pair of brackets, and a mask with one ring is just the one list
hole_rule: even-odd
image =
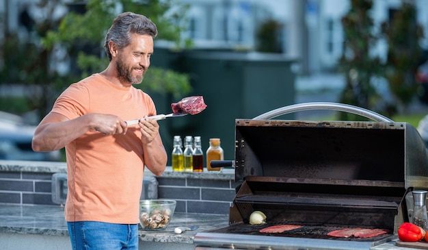
[[[373,110],[379,95],[371,81],[381,75],[383,66],[380,58],[371,55],[371,47],[378,36],[373,34],[371,0],[352,0],[349,12],[342,18],[344,49],[340,58],[340,70],[345,73],[346,85],[340,95],[340,102]],[[340,113],[340,119],[358,121],[361,116]]]

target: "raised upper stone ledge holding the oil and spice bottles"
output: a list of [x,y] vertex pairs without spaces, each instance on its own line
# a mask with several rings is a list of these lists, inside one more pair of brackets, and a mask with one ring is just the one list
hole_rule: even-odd
[[[21,160],[0,160],[0,172],[30,172],[30,173],[66,173],[66,162],[38,162],[38,161],[21,161]],[[155,176],[146,169],[146,176]],[[223,168],[222,171],[204,172],[174,172],[171,166],[166,166],[162,175],[157,177],[167,178],[191,178],[191,179],[235,179],[234,168]]]

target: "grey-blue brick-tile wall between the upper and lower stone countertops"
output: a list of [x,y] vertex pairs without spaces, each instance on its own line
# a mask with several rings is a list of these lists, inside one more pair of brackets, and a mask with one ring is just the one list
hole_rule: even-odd
[[[0,172],[0,204],[55,205],[53,173]],[[228,214],[236,184],[224,179],[157,177],[158,197],[177,201],[176,212]]]

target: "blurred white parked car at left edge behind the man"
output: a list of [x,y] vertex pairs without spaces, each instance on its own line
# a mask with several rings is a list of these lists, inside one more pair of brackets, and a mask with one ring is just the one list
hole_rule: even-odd
[[35,152],[31,149],[36,126],[26,125],[19,116],[0,113],[0,160],[59,161],[60,151]]

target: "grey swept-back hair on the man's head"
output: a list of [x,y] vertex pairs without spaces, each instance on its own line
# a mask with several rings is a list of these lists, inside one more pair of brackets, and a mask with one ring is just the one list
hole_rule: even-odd
[[148,35],[155,38],[157,27],[149,18],[133,12],[124,12],[113,20],[113,24],[105,36],[104,49],[111,61],[109,42],[113,41],[122,49],[131,42],[131,34]]

